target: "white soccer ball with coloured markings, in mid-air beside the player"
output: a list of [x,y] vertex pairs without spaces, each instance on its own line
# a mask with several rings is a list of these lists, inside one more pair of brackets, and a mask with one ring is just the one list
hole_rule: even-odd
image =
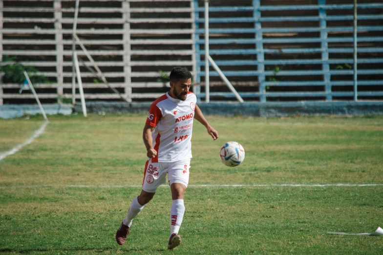
[[225,143],[219,151],[222,163],[227,166],[237,166],[245,159],[245,150],[236,141]]

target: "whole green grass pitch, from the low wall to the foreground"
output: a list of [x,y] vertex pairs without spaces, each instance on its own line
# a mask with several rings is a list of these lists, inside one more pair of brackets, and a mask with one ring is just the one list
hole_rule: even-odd
[[[161,186],[114,234],[141,190],[144,115],[48,116],[45,132],[0,161],[0,253],[5,254],[382,254],[383,236],[331,235],[383,227],[383,116],[207,116],[195,121],[183,243],[167,250],[171,196]],[[0,119],[0,154],[43,123]],[[219,160],[226,141],[245,161]],[[380,184],[375,186],[213,186]],[[209,185],[209,186],[199,186]]]

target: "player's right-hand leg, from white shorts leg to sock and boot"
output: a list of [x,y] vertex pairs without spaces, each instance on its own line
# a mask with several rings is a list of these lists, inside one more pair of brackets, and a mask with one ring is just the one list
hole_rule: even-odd
[[178,234],[184,218],[184,193],[189,183],[190,160],[174,162],[168,172],[171,190],[170,209],[170,238],[168,249],[174,249],[181,244],[182,238]]

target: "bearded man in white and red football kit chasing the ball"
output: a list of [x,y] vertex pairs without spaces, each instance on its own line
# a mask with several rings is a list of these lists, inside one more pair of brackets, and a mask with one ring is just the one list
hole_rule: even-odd
[[172,250],[182,242],[178,231],[185,212],[184,192],[189,183],[193,119],[201,122],[214,140],[218,138],[218,132],[196,105],[197,98],[189,91],[190,85],[191,73],[183,68],[173,68],[170,72],[170,92],[150,106],[143,132],[148,161],[142,190],[133,199],[116,233],[119,245],[125,243],[132,220],[153,198],[157,187],[166,182],[167,174],[172,199],[168,249]]

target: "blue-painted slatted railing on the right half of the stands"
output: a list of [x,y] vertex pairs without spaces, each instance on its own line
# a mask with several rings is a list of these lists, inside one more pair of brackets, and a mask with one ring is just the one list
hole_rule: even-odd
[[[341,26],[329,26],[327,24],[329,21],[353,21],[354,16],[350,15],[349,12],[347,14],[341,12],[339,15],[327,14],[328,10],[352,10],[354,8],[353,4],[326,4],[326,0],[318,0],[318,5],[262,6],[260,4],[260,0],[253,0],[252,6],[209,7],[209,12],[212,12],[212,14],[213,12],[237,14],[236,17],[209,19],[209,23],[216,24],[214,28],[209,29],[209,34],[214,38],[209,41],[209,54],[214,59],[217,58],[215,62],[218,66],[224,67],[222,71],[229,80],[237,79],[241,81],[241,77],[247,77],[247,81],[254,79],[254,82],[257,82],[257,86],[259,86],[258,92],[239,93],[243,98],[256,97],[259,98],[260,102],[266,102],[268,97],[317,97],[319,100],[331,101],[333,97],[349,99],[354,95],[352,90],[334,92],[332,88],[333,86],[354,85],[353,75],[355,70],[351,68],[354,64],[352,57],[352,53],[354,53],[352,34],[354,28],[352,25],[346,26],[344,23]],[[357,19],[360,23],[362,23],[361,21],[380,21],[377,22],[377,25],[369,25],[368,23],[366,25],[364,23],[357,26],[358,43],[364,44],[357,48],[358,54],[362,54],[358,58],[358,85],[361,87],[359,87],[357,93],[358,96],[363,98],[376,98],[383,96],[383,88],[377,87],[378,91],[376,89],[365,91],[364,88],[370,89],[370,86],[383,85],[383,54],[381,54],[383,52],[383,34],[380,32],[383,31],[383,25],[381,25],[383,15],[380,14],[383,11],[383,3],[358,4],[357,9],[358,11],[369,10],[368,12],[371,12],[371,14],[368,14],[368,12],[364,11],[361,15],[358,15]],[[276,17],[262,17],[262,11],[290,10],[318,10],[318,15],[308,16],[301,12],[302,15],[300,16],[292,16],[291,12],[287,12],[289,16],[281,17],[279,12]],[[205,61],[203,58],[201,60],[205,51],[200,49],[200,46],[204,46],[205,40],[199,39],[199,36],[205,33],[203,26],[199,25],[205,22],[201,13],[205,10],[203,7],[198,6],[198,0],[194,0],[194,11],[196,14],[196,82],[199,83],[201,77],[205,76]],[[249,12],[253,13],[253,17],[248,17]],[[268,16],[270,16],[270,13],[268,13]],[[268,27],[262,27],[264,22],[268,23]],[[311,23],[303,23],[303,25],[296,27],[293,27],[293,23],[289,27],[280,25],[270,27],[273,22]],[[318,22],[318,26],[312,26],[313,22]],[[240,25],[241,23],[246,23],[246,27]],[[249,27],[250,23],[253,23],[253,27]],[[226,24],[231,24],[230,28],[226,28]],[[236,25],[237,27],[235,27]],[[251,34],[254,34],[252,38],[249,36]],[[265,34],[267,34],[267,38],[264,38]],[[344,36],[344,34],[347,36]],[[362,36],[363,34],[366,34],[366,36]],[[331,36],[329,37],[329,35]],[[274,46],[270,46],[270,44],[274,44]],[[281,46],[277,47],[278,44]],[[291,47],[288,44],[296,45]],[[288,55],[290,58],[291,55],[295,55],[296,59],[288,59]],[[251,59],[246,59],[247,56],[249,58],[251,56]],[[371,68],[371,64],[374,64],[374,68]],[[288,70],[283,70],[283,68],[281,70],[266,69],[270,69],[272,66],[284,67],[286,65],[290,67],[286,68]],[[303,65],[317,66],[303,68]],[[320,80],[304,80],[305,77],[313,75],[320,76]],[[336,80],[332,80],[334,75],[337,76]],[[210,71],[210,76],[218,76],[218,73]],[[342,80],[340,80],[340,77],[343,77]],[[270,88],[276,86],[323,86],[323,90],[318,92],[272,92]],[[225,98],[234,97],[234,94],[229,92],[211,92],[210,95]],[[198,93],[197,96],[203,98],[205,94]]]

